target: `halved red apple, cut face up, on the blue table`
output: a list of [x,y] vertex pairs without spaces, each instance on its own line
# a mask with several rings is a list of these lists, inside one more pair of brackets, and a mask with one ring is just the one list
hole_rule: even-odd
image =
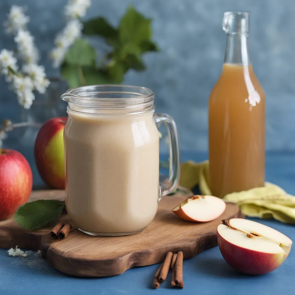
[[288,256],[292,241],[264,224],[241,218],[224,219],[217,227],[217,242],[225,261],[242,273],[273,271]]

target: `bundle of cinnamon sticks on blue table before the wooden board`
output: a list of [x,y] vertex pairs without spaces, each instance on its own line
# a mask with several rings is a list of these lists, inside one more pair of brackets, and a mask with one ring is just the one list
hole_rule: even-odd
[[183,253],[179,251],[177,254],[172,252],[168,252],[165,260],[158,268],[155,273],[153,286],[155,289],[160,287],[160,283],[165,281],[168,275],[169,268],[172,269],[172,287],[180,287],[183,288],[183,280],[182,280],[182,261],[183,261]]

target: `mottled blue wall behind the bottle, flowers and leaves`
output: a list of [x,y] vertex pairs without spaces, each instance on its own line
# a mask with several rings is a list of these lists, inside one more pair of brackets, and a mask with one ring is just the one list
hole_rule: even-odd
[[[48,51],[64,26],[66,0],[1,0],[2,23],[12,4],[27,5],[28,27],[42,54],[49,76]],[[180,132],[181,149],[207,150],[207,100],[221,72],[226,36],[223,12],[249,10],[253,66],[266,92],[266,149],[295,149],[295,2],[293,0],[92,0],[85,19],[104,16],[117,25],[127,5],[133,4],[153,18],[153,40],[160,53],[148,53],[145,72],[130,71],[124,83],[146,86],[156,95],[157,112],[173,116]],[[13,49],[11,36],[0,30],[0,48]],[[106,49],[96,42],[96,49]],[[15,95],[0,82],[0,119],[20,119]],[[33,140],[32,140],[33,142]],[[12,145],[12,139],[5,146]]]

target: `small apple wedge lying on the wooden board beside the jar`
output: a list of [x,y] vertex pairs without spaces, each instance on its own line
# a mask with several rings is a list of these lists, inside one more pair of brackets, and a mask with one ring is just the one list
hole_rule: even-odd
[[196,195],[186,199],[172,211],[184,220],[205,222],[219,217],[225,210],[225,202],[214,196]]

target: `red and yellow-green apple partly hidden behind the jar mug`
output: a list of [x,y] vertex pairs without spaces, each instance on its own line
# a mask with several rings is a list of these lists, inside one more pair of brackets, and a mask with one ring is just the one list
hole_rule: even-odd
[[51,118],[40,128],[34,146],[35,162],[44,182],[65,188],[63,130],[67,117]]

